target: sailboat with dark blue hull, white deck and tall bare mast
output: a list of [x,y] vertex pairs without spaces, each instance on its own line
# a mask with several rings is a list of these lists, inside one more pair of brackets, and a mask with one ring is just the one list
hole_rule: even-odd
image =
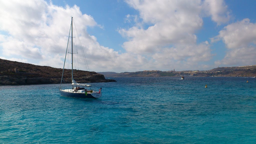
[[[93,90],[91,88],[91,85],[79,84],[73,79],[73,17],[71,17],[71,26],[70,27],[71,27],[71,59],[72,59],[71,60],[71,63],[72,63],[71,87],[72,88],[61,89],[61,83],[62,83],[62,79],[63,79],[64,67],[65,67],[65,61],[66,61],[66,57],[65,57],[62,76],[61,76],[61,82],[60,82],[60,89],[59,89],[60,95],[65,96],[65,97],[73,97],[73,98],[100,98],[102,96],[102,92],[101,92],[102,88],[100,88],[98,91]],[[69,37],[70,37],[70,32],[69,32]],[[68,46],[67,46],[67,49],[68,49]],[[66,51],[66,55],[67,55],[67,51]],[[77,88],[77,86],[79,88]],[[81,86],[81,88],[80,88],[80,86]]]

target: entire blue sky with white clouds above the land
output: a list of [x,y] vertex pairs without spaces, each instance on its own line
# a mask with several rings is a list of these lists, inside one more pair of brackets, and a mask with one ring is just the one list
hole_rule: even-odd
[[73,39],[86,57],[74,40],[75,69],[256,65],[255,6],[255,0],[0,0],[0,58],[63,68],[72,16]]

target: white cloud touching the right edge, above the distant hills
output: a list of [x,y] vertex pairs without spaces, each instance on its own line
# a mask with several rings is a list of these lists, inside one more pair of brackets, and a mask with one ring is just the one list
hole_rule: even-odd
[[249,19],[243,19],[224,27],[212,42],[223,40],[228,51],[223,60],[216,65],[254,65],[256,61],[256,24]]

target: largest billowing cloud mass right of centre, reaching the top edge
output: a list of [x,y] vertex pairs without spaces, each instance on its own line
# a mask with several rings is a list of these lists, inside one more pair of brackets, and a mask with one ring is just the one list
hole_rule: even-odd
[[[152,54],[158,68],[181,61],[184,65],[194,65],[198,61],[208,61],[211,58],[208,42],[197,44],[197,36],[194,34],[203,24],[200,15],[205,12],[203,6],[206,5],[201,1],[126,2],[139,11],[142,19],[140,23],[152,25],[145,29],[134,26],[119,30],[123,37],[129,38],[129,41],[123,43],[127,52],[147,56]],[[214,17],[215,22],[224,22],[221,21],[221,14],[226,12],[223,3],[208,1],[207,6],[211,6],[209,15]],[[213,11],[214,6],[219,8]],[[167,48],[169,46],[172,47]]]

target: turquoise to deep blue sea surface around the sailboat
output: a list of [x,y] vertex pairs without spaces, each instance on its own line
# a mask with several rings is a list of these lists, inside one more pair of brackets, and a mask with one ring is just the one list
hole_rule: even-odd
[[99,99],[0,86],[0,143],[256,143],[256,78],[112,79]]

